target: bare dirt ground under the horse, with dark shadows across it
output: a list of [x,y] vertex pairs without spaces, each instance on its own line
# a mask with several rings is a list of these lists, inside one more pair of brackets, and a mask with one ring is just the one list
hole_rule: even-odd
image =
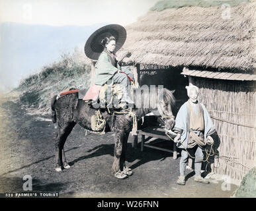
[[[22,177],[32,176],[32,191],[58,191],[78,197],[230,197],[237,187],[222,191],[222,181],[209,185],[194,182],[187,171],[185,186],[176,184],[179,159],[172,154],[132,148],[128,142],[127,164],[134,175],[118,180],[111,174],[114,135],[85,136],[76,125],[67,138],[65,152],[70,169],[54,171],[56,129],[49,116],[28,115],[17,93],[0,97],[0,193],[22,192]],[[140,142],[140,140],[139,140]],[[171,147],[171,142],[158,146]]]

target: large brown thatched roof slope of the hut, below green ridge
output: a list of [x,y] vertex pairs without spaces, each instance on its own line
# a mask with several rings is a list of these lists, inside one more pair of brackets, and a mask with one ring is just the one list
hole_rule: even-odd
[[253,70],[256,3],[231,7],[183,7],[149,11],[126,26],[127,40],[118,52],[130,51],[125,63]]

